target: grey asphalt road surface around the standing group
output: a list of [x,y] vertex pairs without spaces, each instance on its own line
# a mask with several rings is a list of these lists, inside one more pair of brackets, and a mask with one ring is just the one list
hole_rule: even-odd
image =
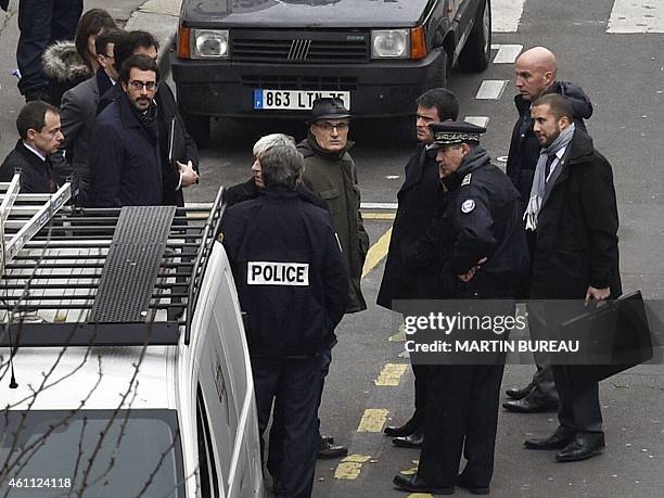
[[[114,1],[116,5],[124,5],[123,9],[137,3]],[[519,20],[515,11],[522,2],[507,3]],[[618,12],[623,4],[628,7],[627,15]],[[118,17],[122,18],[123,12],[128,11],[120,11]],[[629,16],[635,15],[636,21],[629,24]],[[626,291],[641,289],[651,299],[664,297],[663,18],[663,0],[526,0],[518,29],[494,34],[496,44],[550,48],[559,56],[559,79],[582,86],[591,98],[595,114],[588,128],[596,148],[609,158],[614,170],[621,214],[623,285]],[[608,33],[608,28],[620,30],[625,24],[633,30],[652,33]],[[3,47],[8,47],[4,41],[11,39],[12,29],[15,37],[15,25],[11,23],[0,34]],[[3,50],[0,53],[2,155],[15,141],[13,119],[22,104],[10,75],[14,67],[13,51]],[[507,154],[516,118],[511,79],[512,64],[493,63],[480,75],[455,73],[450,81],[450,88],[460,99],[462,117],[488,117],[484,144],[496,158]],[[497,99],[478,100],[476,92],[484,80],[508,82]],[[254,141],[273,131],[290,132],[301,139],[305,128],[285,123],[215,123],[213,146],[202,154],[201,184],[187,193],[188,201],[209,201],[218,186],[231,186],[248,178]],[[411,146],[399,140],[401,131],[394,122],[354,124],[352,137],[357,143],[352,153],[365,202],[396,202],[403,168],[411,154]],[[368,219],[366,225],[375,243],[390,229],[391,221]],[[357,462],[341,468],[339,461],[319,462],[316,497],[406,496],[393,489],[392,478],[403,470],[412,469],[419,456],[414,450],[393,448],[380,432],[358,432],[367,409],[387,410],[387,418],[396,422],[405,421],[412,410],[409,369],[397,386],[374,382],[387,363],[407,362],[399,357],[400,343],[390,341],[397,332],[398,317],[373,304],[382,270],[383,265],[379,264],[363,280],[369,309],[347,316],[337,331],[340,343],[334,349],[321,410],[323,432],[347,445],[352,454],[368,459],[361,462],[365,459],[358,458]],[[503,386],[527,382],[532,371],[529,366],[508,366]],[[554,413],[501,413],[493,496],[664,496],[664,367],[633,369],[603,382],[600,390],[608,448],[603,456],[585,462],[554,463],[551,452],[522,449],[524,438],[548,435],[556,429]],[[381,412],[373,413],[382,426]],[[337,477],[352,478],[337,478],[335,473]],[[457,493],[467,495],[462,489]]]

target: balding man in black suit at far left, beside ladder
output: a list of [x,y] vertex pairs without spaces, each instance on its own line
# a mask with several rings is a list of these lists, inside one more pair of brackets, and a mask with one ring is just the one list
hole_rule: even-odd
[[40,100],[28,102],[16,117],[16,129],[20,139],[0,166],[0,181],[20,173],[22,193],[55,192],[59,179],[50,155],[64,140],[58,108]]

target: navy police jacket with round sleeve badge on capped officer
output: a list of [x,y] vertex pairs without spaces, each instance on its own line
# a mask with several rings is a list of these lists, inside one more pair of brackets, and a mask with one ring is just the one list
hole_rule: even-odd
[[[445,179],[449,189],[437,227],[439,298],[522,297],[528,251],[519,192],[477,145]],[[486,257],[475,276],[467,273]]]

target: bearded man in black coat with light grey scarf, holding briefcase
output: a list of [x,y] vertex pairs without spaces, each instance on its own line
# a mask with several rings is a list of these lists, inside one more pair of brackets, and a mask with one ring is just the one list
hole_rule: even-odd
[[[622,294],[618,272],[618,214],[609,162],[575,127],[570,102],[542,95],[533,104],[535,135],[541,155],[526,208],[526,228],[536,233],[531,298],[583,303]],[[554,330],[565,318],[548,311],[532,323]],[[571,317],[567,317],[571,318]],[[528,449],[560,449],[558,461],[584,460],[604,448],[597,381],[575,366],[552,365],[560,394],[559,427],[544,439],[528,439]]]

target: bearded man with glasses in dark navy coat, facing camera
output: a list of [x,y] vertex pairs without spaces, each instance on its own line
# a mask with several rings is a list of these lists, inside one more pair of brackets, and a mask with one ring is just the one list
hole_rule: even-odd
[[162,165],[154,95],[156,63],[133,55],[119,73],[123,92],[97,117],[90,152],[89,203],[95,207],[159,205]]

